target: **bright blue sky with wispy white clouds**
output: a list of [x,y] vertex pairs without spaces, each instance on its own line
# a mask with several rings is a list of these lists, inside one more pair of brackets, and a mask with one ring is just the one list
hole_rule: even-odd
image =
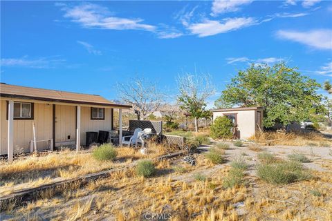
[[[117,99],[145,77],[208,73],[218,93],[250,63],[332,79],[331,1],[1,1],[1,82]],[[322,90],[319,91],[322,93]]]

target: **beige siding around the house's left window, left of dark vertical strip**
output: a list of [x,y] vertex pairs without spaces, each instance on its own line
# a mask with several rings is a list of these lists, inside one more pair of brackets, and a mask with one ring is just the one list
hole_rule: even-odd
[[[6,119],[7,104],[6,100],[1,100],[1,154],[8,153],[8,120]],[[34,105],[34,119],[14,120],[14,153],[29,152],[30,140],[33,140],[33,122],[35,122],[36,139],[46,140],[52,138],[52,105]],[[47,143],[38,143],[37,149],[48,148]]]

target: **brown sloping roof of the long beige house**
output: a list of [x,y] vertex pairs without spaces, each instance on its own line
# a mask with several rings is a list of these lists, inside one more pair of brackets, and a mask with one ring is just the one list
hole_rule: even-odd
[[19,99],[34,99],[46,102],[63,102],[71,104],[89,104],[110,106],[118,108],[131,108],[131,105],[115,104],[100,95],[72,93],[62,90],[48,90],[42,88],[30,88],[10,84],[0,84],[0,97],[13,97]]

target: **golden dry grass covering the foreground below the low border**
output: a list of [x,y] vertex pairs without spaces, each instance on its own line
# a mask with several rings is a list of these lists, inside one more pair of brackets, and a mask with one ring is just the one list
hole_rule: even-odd
[[[192,178],[202,169],[214,168],[201,159],[198,164],[185,174]],[[170,166],[171,162],[163,161],[157,167],[161,170]],[[203,181],[179,180],[172,172],[146,179],[129,169],[73,190],[69,199],[61,196],[39,200],[14,209],[11,214],[18,220],[26,218],[24,214],[56,220],[141,220],[143,214],[165,212],[167,205],[170,220],[331,220],[331,173],[315,172],[314,180],[277,188],[248,176],[246,180],[255,182],[254,186],[224,189],[223,180],[228,173],[228,167],[216,169],[213,175],[205,175]],[[313,194],[313,190],[320,196]],[[234,206],[237,202],[244,204],[240,207],[244,215]],[[52,211],[47,209],[50,207]]]

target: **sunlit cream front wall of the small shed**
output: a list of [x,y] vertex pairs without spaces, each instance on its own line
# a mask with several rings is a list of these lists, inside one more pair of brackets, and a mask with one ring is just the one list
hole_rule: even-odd
[[213,120],[216,119],[216,117],[231,113],[237,114],[237,129],[240,134],[240,139],[248,139],[252,135],[255,135],[255,110],[213,112]]

